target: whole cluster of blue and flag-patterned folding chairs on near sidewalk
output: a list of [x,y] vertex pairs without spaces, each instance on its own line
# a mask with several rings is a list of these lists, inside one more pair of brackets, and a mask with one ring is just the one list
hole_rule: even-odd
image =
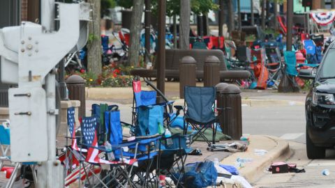
[[[80,180],[86,187],[157,187],[159,176],[165,175],[168,185],[183,187],[181,177],[193,150],[191,143],[197,137],[209,146],[215,143],[214,87],[186,87],[186,107],[175,106],[174,113],[173,102],[165,97],[163,102],[156,101],[160,93],[156,88],[142,91],[141,82],[135,80],[133,93],[131,124],[121,122],[117,105],[93,104],[91,116],[82,118],[80,126],[75,125],[74,109],[68,109],[72,143],[59,156],[66,169],[66,186]],[[181,133],[165,136],[180,118],[182,125],[174,124],[174,128],[183,127]],[[212,133],[211,139],[205,136],[206,130]]]

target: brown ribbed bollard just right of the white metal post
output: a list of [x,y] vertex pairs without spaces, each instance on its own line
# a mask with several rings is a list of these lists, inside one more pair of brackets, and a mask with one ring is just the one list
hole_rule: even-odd
[[78,75],[72,75],[66,79],[66,86],[68,87],[68,98],[80,101],[78,116],[80,118],[85,116],[85,80]]

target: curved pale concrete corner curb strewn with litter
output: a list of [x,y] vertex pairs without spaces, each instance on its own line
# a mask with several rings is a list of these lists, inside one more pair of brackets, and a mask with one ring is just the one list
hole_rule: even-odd
[[[251,137],[255,137],[255,136],[251,136]],[[259,178],[259,175],[264,171],[264,169],[269,167],[271,162],[274,162],[274,160],[280,157],[284,157],[285,155],[288,155],[290,153],[290,147],[289,147],[288,141],[279,139],[278,137],[275,137],[275,136],[262,136],[262,137],[263,138],[265,137],[271,141],[274,141],[275,145],[274,145],[274,148],[269,150],[267,154],[262,157],[255,155],[253,151],[249,151],[249,152],[247,151],[248,157],[251,156],[257,159],[255,159],[255,161],[253,161],[251,164],[246,164],[246,166],[239,169],[239,173],[241,176],[246,178],[246,180],[248,180],[248,182],[250,183],[255,182],[255,180]],[[249,147],[252,145],[252,142],[253,140],[251,139],[251,144],[249,145]],[[243,153],[241,152],[234,153],[233,155],[230,155],[229,157],[223,159],[223,161],[221,161],[221,164],[234,165],[231,163],[234,162],[237,159],[237,157],[241,157],[241,155],[243,155]]]

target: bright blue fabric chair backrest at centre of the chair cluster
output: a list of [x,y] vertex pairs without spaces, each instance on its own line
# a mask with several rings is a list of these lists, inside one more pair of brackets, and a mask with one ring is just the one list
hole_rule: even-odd
[[150,136],[159,133],[163,127],[164,107],[161,105],[140,106],[137,109],[137,126],[135,136]]

